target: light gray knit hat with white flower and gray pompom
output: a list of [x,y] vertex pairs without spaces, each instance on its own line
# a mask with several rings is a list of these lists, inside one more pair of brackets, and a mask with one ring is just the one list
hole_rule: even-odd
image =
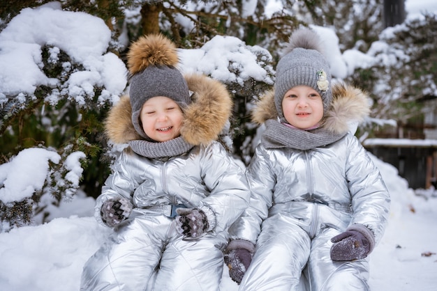
[[309,86],[323,99],[326,112],[332,102],[331,72],[329,63],[321,54],[320,38],[311,29],[299,29],[292,33],[285,55],[276,66],[274,104],[283,120],[282,100],[288,90],[295,86]]

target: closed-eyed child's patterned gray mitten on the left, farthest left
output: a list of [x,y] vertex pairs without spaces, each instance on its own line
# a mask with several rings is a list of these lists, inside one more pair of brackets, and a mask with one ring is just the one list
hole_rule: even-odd
[[128,218],[131,212],[131,201],[124,197],[106,200],[100,210],[103,223],[111,228]]

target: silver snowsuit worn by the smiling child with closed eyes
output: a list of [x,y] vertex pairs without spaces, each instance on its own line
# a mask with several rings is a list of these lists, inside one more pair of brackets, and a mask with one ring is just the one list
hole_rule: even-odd
[[[222,97],[214,97],[211,92],[221,92],[214,90],[221,87],[211,84],[212,80],[201,87],[209,94],[193,88],[205,78],[187,80],[198,94],[195,104],[205,96],[220,104]],[[128,107],[128,101],[121,100],[121,111],[123,106]],[[214,110],[217,111],[220,109]],[[200,114],[194,115],[197,117],[187,115],[184,124],[205,125],[205,120],[196,119]],[[206,117],[212,118],[207,129],[223,125],[214,114]],[[129,120],[128,116],[125,119]],[[128,123],[129,129],[131,126]],[[214,130],[218,134],[221,127]],[[121,128],[119,132],[128,130]],[[202,128],[192,131],[201,133]],[[204,139],[205,136],[202,135]],[[101,205],[116,196],[131,199],[133,212],[87,261],[81,290],[218,290],[228,228],[246,209],[250,196],[244,171],[221,143],[210,141],[182,155],[155,159],[126,148],[96,201],[98,221]],[[175,230],[171,205],[203,210],[209,223],[207,233],[198,239],[184,239]]]

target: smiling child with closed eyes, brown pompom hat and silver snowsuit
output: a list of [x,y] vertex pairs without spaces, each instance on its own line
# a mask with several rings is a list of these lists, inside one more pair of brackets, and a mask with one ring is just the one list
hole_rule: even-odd
[[105,124],[128,147],[96,201],[114,233],[86,262],[80,290],[218,290],[228,228],[249,202],[244,172],[216,141],[232,100],[183,76],[175,45],[142,37],[128,54],[129,97]]

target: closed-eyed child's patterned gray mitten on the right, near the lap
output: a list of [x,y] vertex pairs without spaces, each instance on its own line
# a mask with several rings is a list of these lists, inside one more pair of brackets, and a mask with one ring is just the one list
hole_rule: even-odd
[[197,238],[203,235],[208,227],[208,219],[205,212],[199,209],[178,208],[176,210],[177,217],[176,230],[184,237]]

